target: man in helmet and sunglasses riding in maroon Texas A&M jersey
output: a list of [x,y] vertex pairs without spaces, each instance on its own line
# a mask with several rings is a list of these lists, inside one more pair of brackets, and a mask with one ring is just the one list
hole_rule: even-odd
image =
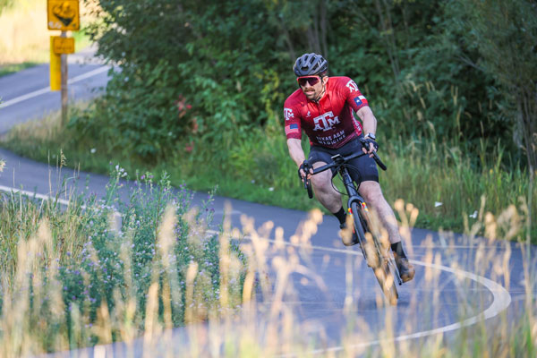
[[[357,171],[351,168],[350,174],[360,184],[362,197],[377,211],[388,230],[391,249],[402,280],[410,281],[415,270],[406,258],[396,217],[382,195],[379,172],[371,155],[379,146],[375,137],[377,119],[368,106],[367,99],[349,77],[328,77],[328,61],[322,55],[304,54],[298,57],[293,71],[299,89],[286,99],[284,116],[287,147],[289,155],[298,166],[299,176],[302,180],[306,176],[301,145],[302,131],[310,139],[307,163],[313,168],[326,165],[338,153],[343,156],[357,150],[370,153],[370,156],[362,156],[351,162]],[[363,127],[354,118],[353,110],[362,120]],[[368,147],[362,147],[362,138]],[[317,199],[337,217],[340,228],[345,228],[345,209],[341,195],[332,187],[332,173],[326,171],[313,176],[308,173],[308,179],[310,178]]]

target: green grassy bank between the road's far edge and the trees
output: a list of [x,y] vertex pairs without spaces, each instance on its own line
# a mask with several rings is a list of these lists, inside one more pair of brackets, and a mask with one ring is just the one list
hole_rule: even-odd
[[[80,113],[74,108],[72,115]],[[218,143],[197,138],[176,144],[176,150],[153,163],[142,162],[113,149],[112,142],[94,141],[91,135],[70,132],[59,126],[59,115],[49,115],[41,122],[13,128],[2,140],[7,149],[29,158],[55,163],[62,149],[68,166],[106,174],[110,162],[119,162],[130,172],[166,170],[173,184],[187,183],[197,191],[209,191],[237,199],[258,201],[291,209],[320,208],[309,200],[296,179],[294,163],[288,157],[285,136],[277,123],[247,136],[223,133]],[[381,133],[380,133],[381,136]],[[70,140],[76,138],[76,140]],[[113,141],[113,140],[111,140]],[[304,148],[308,145],[303,143]],[[500,143],[490,152],[490,143],[482,142],[482,151],[465,152],[464,143],[437,143],[428,138],[399,138],[381,144],[381,157],[388,171],[380,181],[388,201],[397,199],[413,203],[420,210],[416,226],[463,232],[487,213],[499,217],[509,206],[531,209],[521,226],[522,231],[508,239],[528,239],[534,227],[537,188],[530,192],[527,173],[504,158]],[[482,231],[481,234],[484,234]],[[503,232],[499,236],[505,235]]]

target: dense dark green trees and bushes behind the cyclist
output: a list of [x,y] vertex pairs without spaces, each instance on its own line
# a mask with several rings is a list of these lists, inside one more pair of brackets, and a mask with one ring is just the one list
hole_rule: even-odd
[[500,110],[508,98],[472,65],[482,56],[475,41],[463,40],[460,18],[472,13],[453,16],[454,2],[93,2],[99,21],[90,38],[121,71],[71,125],[142,161],[188,156],[207,141],[216,145],[204,155],[226,160],[253,128],[281,120],[294,90],[291,64],[305,51],[325,54],[333,75],[358,82],[379,138],[434,134],[475,150],[513,132],[513,115]]

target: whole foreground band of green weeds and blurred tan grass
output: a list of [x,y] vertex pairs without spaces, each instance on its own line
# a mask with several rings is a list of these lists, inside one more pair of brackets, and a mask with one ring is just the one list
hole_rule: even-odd
[[[320,210],[312,210],[289,238],[271,222],[256,230],[247,217],[242,228],[225,220],[216,237],[197,214],[203,210],[190,210],[188,191],[180,188],[172,193],[166,179],[153,183],[149,173],[140,176],[130,189],[130,203],[122,205],[117,198],[124,177],[124,169],[113,171],[104,200],[62,194],[69,200],[64,209],[54,199],[2,194],[0,244],[9,253],[0,261],[2,356],[94,345],[93,353],[99,356],[533,357],[536,353],[534,261],[524,255],[524,300],[515,315],[501,311],[487,321],[481,311],[490,302],[490,292],[479,280],[457,271],[487,273],[508,289],[510,243],[490,240],[489,245],[475,246],[473,240],[481,226],[499,236],[506,229],[520,232],[513,225],[521,221],[481,217],[465,233],[474,249],[445,251],[444,261],[432,240],[426,239],[420,249],[424,267],[413,281],[420,289],[414,290],[412,284],[400,288],[408,291],[408,298],[399,313],[388,306],[376,283],[363,287],[362,277],[354,279],[358,269],[372,272],[362,256],[347,255],[345,277],[330,277],[346,282],[341,311],[347,322],[341,327],[341,340],[333,342],[322,325],[299,317],[298,286],[331,297],[319,268],[310,263],[315,252],[311,234],[322,221]],[[124,215],[120,225],[113,206]],[[409,251],[418,250],[410,244],[417,209],[405,203],[396,208]],[[524,218],[524,212],[527,208],[520,205],[499,217]],[[240,254],[233,249],[237,240]],[[527,248],[527,243],[521,245]],[[327,254],[324,260],[336,264],[337,259]],[[451,282],[456,301],[450,304],[460,309],[455,322],[461,328],[453,336],[428,333],[396,340],[401,320],[403,335],[437,328],[432,322],[443,321],[441,292],[446,277],[434,268],[439,265],[455,270]],[[364,288],[374,290],[372,302]],[[372,328],[374,322],[362,319],[363,304],[379,311],[382,328]],[[475,324],[465,323],[474,317]],[[172,335],[170,328],[183,324],[183,336]],[[124,352],[107,345],[115,341],[125,343]]]

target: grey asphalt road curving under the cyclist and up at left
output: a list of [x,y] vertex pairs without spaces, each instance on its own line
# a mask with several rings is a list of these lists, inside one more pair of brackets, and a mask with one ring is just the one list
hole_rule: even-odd
[[[81,76],[95,72],[98,66],[73,64],[70,74],[72,77]],[[72,96],[89,98],[95,95],[94,88],[106,83],[106,72],[87,79],[79,78],[82,80],[72,86]],[[0,78],[0,96],[9,104],[14,98],[46,88],[46,79],[45,65]],[[15,123],[59,107],[59,98],[55,97],[56,94],[51,93],[38,94],[0,109],[0,132],[8,130]],[[6,161],[4,173],[0,175],[0,185],[4,188],[50,194],[49,178],[53,178],[54,184],[57,175],[67,175],[71,178],[69,183],[72,185],[84,183],[86,177],[89,177],[90,192],[103,192],[107,183],[107,178],[102,175],[73,175],[66,169],[58,174],[54,168],[20,158],[4,149],[0,149],[0,158]],[[52,191],[54,194],[55,185],[52,185]],[[124,195],[127,193],[124,192]],[[206,194],[197,193],[194,204],[199,204],[205,197]],[[233,207],[231,217],[235,226],[240,226],[242,215],[253,217],[258,227],[272,221],[275,227],[284,229],[286,246],[293,247],[292,251],[301,251],[300,245],[290,242],[290,237],[297,224],[306,219],[307,213],[217,197],[214,202],[215,222],[220,221],[225,202],[230,202]],[[461,235],[439,234],[421,229],[413,229],[411,234],[405,244],[411,253],[416,277],[412,282],[399,287],[400,298],[396,308],[379,307],[379,287],[371,269],[365,266],[355,247],[346,248],[340,242],[336,218],[324,217],[317,233],[311,238],[311,255],[301,259],[305,267],[311,268],[322,279],[324,287],[317,285],[311,277],[304,280],[303,275],[293,274],[294,292],[286,294],[286,304],[293,308],[304,327],[311,330],[311,335],[324,337],[322,339],[326,346],[335,350],[339,349],[340,337],[345,328],[349,327],[349,316],[369,322],[371,337],[377,337],[385,328],[385,318],[391,315],[394,319],[395,339],[405,341],[440,333],[456,337],[458,329],[473,325],[478,318],[483,317],[487,319],[490,329],[493,329],[501,312],[521,311],[519,303],[524,298],[523,255],[515,243],[489,243],[484,239],[471,241]],[[495,268],[490,265],[480,266],[477,258],[479,245],[482,245],[482,251],[479,252],[485,256],[503,258],[506,252],[510,252],[508,283],[505,278],[498,277]],[[534,248],[531,250],[534,253]],[[535,267],[534,261],[532,266]],[[352,268],[353,277],[345,276],[349,272],[346,269],[348,267]],[[274,275],[274,272],[269,272],[269,276],[276,281]],[[465,311],[467,319],[462,322],[459,321],[461,311]],[[179,351],[179,342],[188,338],[184,336],[183,329],[176,329],[174,335]],[[378,342],[373,340],[364,344],[376,345]],[[137,352],[141,352],[141,345],[141,341],[135,343]],[[121,349],[121,345],[113,347]]]

